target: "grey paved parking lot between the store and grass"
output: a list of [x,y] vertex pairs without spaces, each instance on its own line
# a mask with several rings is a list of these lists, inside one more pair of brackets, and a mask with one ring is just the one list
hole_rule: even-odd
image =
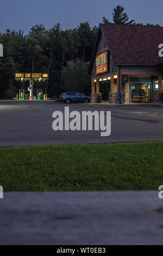
[[[100,131],[53,131],[52,113],[65,109],[64,103],[1,102],[0,147],[70,143],[115,143],[162,141],[161,106],[89,106],[70,104],[70,111],[111,111],[111,135]],[[140,113],[135,113],[140,112]],[[145,113],[143,113],[145,112]]]

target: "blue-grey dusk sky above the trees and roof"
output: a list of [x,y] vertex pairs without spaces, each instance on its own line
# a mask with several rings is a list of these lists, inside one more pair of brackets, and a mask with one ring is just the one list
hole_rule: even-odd
[[28,33],[36,23],[43,23],[47,29],[58,22],[62,29],[74,28],[86,21],[98,26],[103,16],[112,21],[112,9],[118,4],[137,23],[163,26],[162,0],[1,0],[0,32],[9,28]]

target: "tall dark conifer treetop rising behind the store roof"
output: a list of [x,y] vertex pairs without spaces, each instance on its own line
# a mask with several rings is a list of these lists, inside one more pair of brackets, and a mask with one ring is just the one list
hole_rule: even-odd
[[[112,20],[114,21],[114,24],[126,24],[126,25],[133,25],[134,20],[129,20],[129,16],[127,15],[127,13],[124,13],[124,7],[122,7],[121,5],[117,5],[114,9],[113,9],[114,13],[112,13]],[[108,19],[105,19],[105,17],[103,17],[103,22],[104,23],[111,23],[109,22]]]

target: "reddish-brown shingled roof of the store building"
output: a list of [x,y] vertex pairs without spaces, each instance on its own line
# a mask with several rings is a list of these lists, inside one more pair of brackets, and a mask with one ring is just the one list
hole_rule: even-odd
[[116,64],[157,65],[163,27],[100,24]]

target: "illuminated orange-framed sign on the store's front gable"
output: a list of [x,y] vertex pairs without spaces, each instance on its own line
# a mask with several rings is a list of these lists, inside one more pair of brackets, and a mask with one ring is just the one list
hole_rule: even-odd
[[96,74],[108,71],[108,52],[104,52],[96,57]]

